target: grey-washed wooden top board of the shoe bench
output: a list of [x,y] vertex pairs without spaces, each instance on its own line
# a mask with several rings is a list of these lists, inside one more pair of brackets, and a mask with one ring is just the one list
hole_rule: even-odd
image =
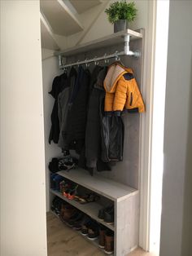
[[59,171],[57,174],[64,178],[71,179],[73,182],[80,184],[85,188],[97,192],[101,196],[105,196],[112,201],[121,201],[129,196],[133,196],[138,192],[137,189],[117,183],[112,179],[104,178],[101,175],[89,175],[88,171],[83,169]]

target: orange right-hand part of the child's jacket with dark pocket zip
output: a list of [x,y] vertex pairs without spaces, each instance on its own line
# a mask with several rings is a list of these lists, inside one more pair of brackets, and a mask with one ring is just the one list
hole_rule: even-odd
[[142,94],[134,77],[128,81],[127,101],[125,108],[128,109],[130,113],[135,112],[135,109],[137,109],[139,113],[145,112],[145,105],[142,99]]

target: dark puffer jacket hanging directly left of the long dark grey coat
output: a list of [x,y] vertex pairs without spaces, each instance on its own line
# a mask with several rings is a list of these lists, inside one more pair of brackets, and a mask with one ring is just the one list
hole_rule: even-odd
[[68,145],[68,149],[74,149],[77,153],[81,153],[85,145],[89,80],[89,70],[85,70],[80,66],[76,84],[68,103],[68,117],[64,139]]

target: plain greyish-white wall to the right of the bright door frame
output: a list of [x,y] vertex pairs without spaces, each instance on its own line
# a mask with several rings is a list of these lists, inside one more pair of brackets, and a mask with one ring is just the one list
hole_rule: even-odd
[[[190,256],[192,254],[190,245],[192,215],[192,183],[190,179],[192,170],[190,151],[191,24],[192,2],[170,1],[161,256]],[[183,230],[183,227],[185,227],[185,230]],[[183,232],[185,236],[183,236],[182,241]],[[187,237],[189,234],[190,236]]]

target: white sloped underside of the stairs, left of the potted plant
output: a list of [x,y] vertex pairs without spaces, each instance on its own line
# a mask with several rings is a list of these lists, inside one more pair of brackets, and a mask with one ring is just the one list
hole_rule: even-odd
[[[58,50],[59,42],[64,41],[63,39],[80,32],[83,37],[102,7],[103,0],[40,0],[41,46]],[[88,17],[91,8],[93,15],[89,14],[87,19],[85,17]],[[57,40],[58,38],[63,39]]]

